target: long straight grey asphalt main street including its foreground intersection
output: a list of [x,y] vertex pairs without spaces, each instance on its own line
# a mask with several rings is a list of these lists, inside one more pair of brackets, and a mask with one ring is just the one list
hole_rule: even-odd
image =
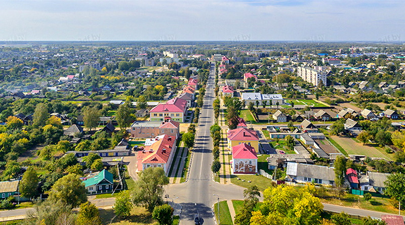
[[[215,87],[215,65],[210,68],[207,81],[204,105],[200,110],[199,123],[195,137],[191,166],[187,182],[166,187],[166,193],[181,203],[182,218],[180,224],[194,224],[194,215],[199,213],[204,224],[215,224],[212,205],[226,199],[243,199],[244,188],[236,185],[221,185],[213,181],[211,163],[213,160],[213,143],[210,136],[210,127],[214,124],[213,101]],[[178,198],[177,198],[178,197]]]

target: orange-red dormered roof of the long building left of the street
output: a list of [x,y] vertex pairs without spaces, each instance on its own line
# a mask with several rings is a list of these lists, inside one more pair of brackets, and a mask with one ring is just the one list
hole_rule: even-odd
[[168,162],[173,145],[175,145],[176,138],[167,134],[164,134],[161,137],[162,138],[154,142],[152,145],[145,146],[143,151],[138,152],[138,170],[142,169],[142,164],[144,163]]

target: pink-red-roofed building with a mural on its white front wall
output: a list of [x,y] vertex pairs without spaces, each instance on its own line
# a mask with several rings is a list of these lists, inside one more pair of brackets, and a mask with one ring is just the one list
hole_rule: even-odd
[[245,143],[232,147],[233,173],[257,173],[255,148]]

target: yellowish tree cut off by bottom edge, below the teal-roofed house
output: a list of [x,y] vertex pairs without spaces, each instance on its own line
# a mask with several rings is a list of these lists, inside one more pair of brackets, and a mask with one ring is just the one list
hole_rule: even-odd
[[101,225],[100,213],[96,205],[85,202],[80,205],[76,225]]

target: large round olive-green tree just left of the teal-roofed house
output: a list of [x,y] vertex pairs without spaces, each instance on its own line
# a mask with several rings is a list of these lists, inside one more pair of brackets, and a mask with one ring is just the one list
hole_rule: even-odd
[[87,202],[85,185],[76,174],[67,174],[58,179],[49,192],[51,201],[62,201],[72,208]]

